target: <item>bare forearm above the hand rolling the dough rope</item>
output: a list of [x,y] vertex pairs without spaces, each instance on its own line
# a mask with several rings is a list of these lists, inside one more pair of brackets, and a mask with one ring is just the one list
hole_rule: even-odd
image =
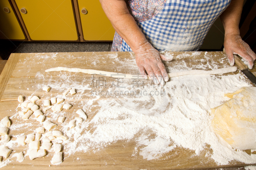
[[100,0],[101,6],[116,32],[135,52],[147,42],[124,0]]

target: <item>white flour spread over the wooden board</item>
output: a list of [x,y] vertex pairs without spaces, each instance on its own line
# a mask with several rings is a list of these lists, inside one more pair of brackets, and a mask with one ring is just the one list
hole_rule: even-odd
[[[54,56],[57,60],[58,55]],[[198,52],[193,53],[193,55],[198,55]],[[208,54],[205,53],[205,55]],[[67,56],[67,58],[72,57]],[[115,62],[120,63],[116,55],[109,57],[112,58],[113,64]],[[186,55],[179,57],[186,57]],[[49,59],[49,57],[42,56],[39,59]],[[136,67],[133,60],[127,59],[123,62],[124,65]],[[201,59],[201,62],[190,69],[218,68],[218,64],[207,58]],[[44,62],[40,61],[40,63]],[[181,68],[187,67],[185,62],[182,64],[167,68],[167,72],[180,71]],[[122,70],[122,67],[117,68],[116,72],[120,72],[119,70]],[[51,75],[50,73],[47,74]],[[232,160],[246,164],[256,163],[255,154],[248,155],[244,151],[235,151],[225,144],[221,144],[214,132],[210,130],[210,108],[217,107],[228,100],[227,97],[224,97],[224,93],[235,92],[243,86],[249,86],[241,74],[182,76],[171,78],[164,87],[150,85],[149,80],[139,82],[139,84],[144,82],[144,87],[141,85],[139,87],[134,85],[133,87],[131,85],[132,80],[126,79],[122,80],[123,82],[120,84],[125,88],[114,86],[110,88],[108,85],[107,90],[102,87],[93,88],[88,84],[88,81],[76,80],[76,73],[61,72],[58,77],[58,81],[52,81],[51,76],[47,79],[43,72],[37,72],[36,78],[43,79],[45,84],[38,84],[35,80],[34,88],[36,91],[31,96],[36,95],[37,92],[42,92],[44,85],[49,85],[52,89],[59,91],[57,97],[65,98],[65,101],[72,101],[73,106],[78,105],[83,108],[88,117],[94,114],[94,117],[90,119],[91,121],[86,120],[82,124],[76,123],[74,129],[68,128],[69,121],[62,123],[60,130],[70,139],[74,139],[63,142],[64,161],[76,152],[87,152],[88,154],[100,152],[117,141],[135,140],[136,146],[134,146],[131,156],[140,155],[147,160],[167,159],[164,153],[175,151],[181,147],[192,150],[195,155],[198,155],[207,147],[206,145],[210,145],[212,153],[206,155],[210,156],[218,165],[227,165]],[[116,80],[114,82],[117,83]],[[61,96],[67,87],[76,88],[77,94]],[[104,90],[103,96],[95,95],[102,90]],[[139,90],[143,92],[142,95],[125,95]],[[161,92],[164,95],[159,95]],[[104,96],[106,94],[110,94],[110,96]],[[26,98],[30,99],[31,96],[26,96]],[[89,99],[78,101],[84,96],[89,96]],[[105,98],[110,99],[105,100]],[[97,107],[96,111],[95,107]],[[10,112],[10,116],[17,116],[16,111],[15,115]],[[56,113],[50,109],[45,115],[47,120],[51,121],[65,114],[65,111]],[[21,120],[19,124],[12,124],[10,129],[25,128],[30,129],[30,133],[32,133],[39,126],[35,127],[35,124]],[[20,134],[15,134],[15,137],[16,135]],[[14,151],[17,147],[15,141],[10,141],[7,146]],[[8,161],[10,162],[9,159],[2,162],[0,167],[6,165]]]

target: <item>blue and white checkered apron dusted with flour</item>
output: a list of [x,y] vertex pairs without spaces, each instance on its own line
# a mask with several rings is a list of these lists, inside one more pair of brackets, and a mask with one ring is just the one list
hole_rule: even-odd
[[[159,51],[197,51],[213,22],[231,0],[167,0],[155,17],[137,22]],[[123,40],[122,51],[132,51]]]

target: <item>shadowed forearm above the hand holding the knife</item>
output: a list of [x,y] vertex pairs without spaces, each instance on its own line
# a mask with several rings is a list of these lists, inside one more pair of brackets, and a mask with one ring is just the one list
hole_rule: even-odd
[[229,33],[240,34],[239,21],[243,10],[244,0],[231,0],[228,8],[220,15],[225,29],[225,36]]

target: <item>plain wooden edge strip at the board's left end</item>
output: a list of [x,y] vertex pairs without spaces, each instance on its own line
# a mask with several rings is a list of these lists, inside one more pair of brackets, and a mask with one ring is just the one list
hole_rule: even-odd
[[12,75],[12,71],[14,70],[16,63],[18,62],[19,57],[20,53],[12,53],[4,66],[4,69],[0,75],[0,99],[2,98],[5,87]]

